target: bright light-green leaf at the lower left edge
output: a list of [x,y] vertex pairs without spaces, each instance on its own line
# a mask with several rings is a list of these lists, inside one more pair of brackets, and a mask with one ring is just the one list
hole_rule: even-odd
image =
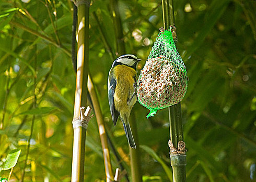
[[8,155],[6,157],[6,161],[2,167],[3,171],[9,170],[10,168],[13,168],[17,164],[20,152],[21,152],[20,149],[15,149],[15,150],[11,150],[8,153]]

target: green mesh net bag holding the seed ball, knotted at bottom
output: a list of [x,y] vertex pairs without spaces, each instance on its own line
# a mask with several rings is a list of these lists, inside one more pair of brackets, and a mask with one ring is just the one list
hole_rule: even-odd
[[171,28],[158,34],[137,81],[141,105],[154,116],[157,110],[183,99],[188,87],[187,71],[174,44]]

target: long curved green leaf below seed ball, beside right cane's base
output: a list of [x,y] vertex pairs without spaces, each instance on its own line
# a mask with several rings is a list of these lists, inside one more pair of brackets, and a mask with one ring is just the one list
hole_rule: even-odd
[[170,170],[170,167],[167,166],[166,163],[163,160],[161,160],[161,158],[159,158],[156,152],[153,149],[144,145],[141,145],[139,147],[145,150],[149,155],[151,155],[155,160],[157,160],[162,165],[162,168],[164,168],[169,180],[172,181],[172,172]]

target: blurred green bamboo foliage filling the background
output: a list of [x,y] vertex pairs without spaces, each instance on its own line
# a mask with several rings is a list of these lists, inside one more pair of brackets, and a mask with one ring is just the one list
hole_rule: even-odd
[[[68,0],[24,2],[0,2],[0,160],[10,150],[21,149],[11,178],[18,181],[34,123],[25,181],[70,181],[73,5]],[[108,71],[117,58],[110,54],[117,50],[111,2],[91,2],[89,69],[106,127],[130,174],[125,134],[121,122],[113,127],[107,97]],[[176,45],[189,77],[181,103],[187,180],[252,181],[255,167],[254,171],[250,167],[255,166],[256,155],[255,1],[173,2]],[[143,60],[138,65],[142,69],[162,26],[161,1],[118,1],[118,6],[126,52]],[[143,145],[144,181],[168,181],[167,109],[146,119],[148,110],[136,103],[133,112]],[[113,167],[118,167],[114,155],[111,159]],[[0,176],[7,178],[8,171]],[[86,136],[85,181],[101,180],[105,180],[104,165],[93,118]]]

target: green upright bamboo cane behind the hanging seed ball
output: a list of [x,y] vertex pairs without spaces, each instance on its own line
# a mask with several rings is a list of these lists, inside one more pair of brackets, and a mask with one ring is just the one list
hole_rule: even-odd
[[[164,28],[165,30],[168,30],[170,25],[174,25],[174,10],[172,0],[162,0],[162,15],[164,20]],[[174,149],[176,149],[177,151],[177,149],[179,150],[179,141],[183,141],[182,114],[180,102],[174,106],[169,107],[168,111],[170,123],[170,140],[174,146]],[[182,153],[170,153],[170,160],[173,171],[173,182],[186,181],[185,166],[187,164],[187,155],[185,155],[184,153],[184,151],[182,151]]]

